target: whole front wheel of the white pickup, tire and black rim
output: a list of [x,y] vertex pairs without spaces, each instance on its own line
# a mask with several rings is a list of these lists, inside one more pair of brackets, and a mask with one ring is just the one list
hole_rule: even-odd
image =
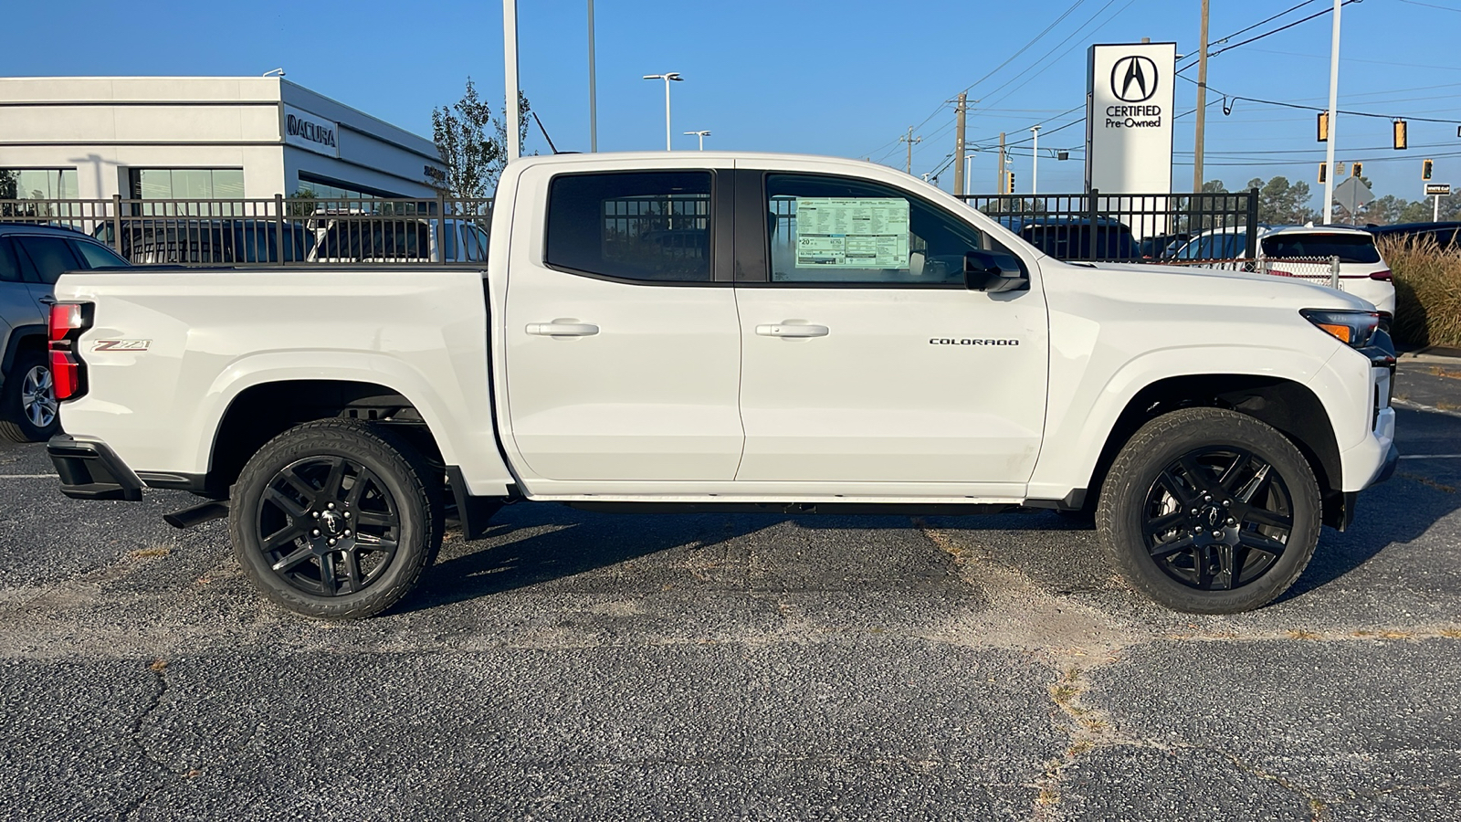
[[1106,475],[1096,527],[1122,576],[1191,613],[1268,604],[1319,541],[1319,487],[1271,426],[1185,408],[1137,431]]

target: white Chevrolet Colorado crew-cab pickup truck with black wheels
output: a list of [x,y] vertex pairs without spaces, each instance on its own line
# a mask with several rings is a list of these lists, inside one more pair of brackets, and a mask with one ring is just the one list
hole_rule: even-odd
[[206,497],[248,578],[377,613],[506,502],[1094,515],[1134,588],[1259,607],[1395,465],[1384,317],[1264,275],[1065,263],[833,158],[523,159],[485,266],[56,287],[61,489]]

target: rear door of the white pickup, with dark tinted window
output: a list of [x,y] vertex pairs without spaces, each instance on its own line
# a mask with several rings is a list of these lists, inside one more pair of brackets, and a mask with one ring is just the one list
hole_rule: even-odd
[[729,252],[713,206],[729,173],[527,171],[519,190],[530,186],[548,189],[548,214],[514,241],[506,316],[526,467],[567,481],[732,480],[741,326],[713,265],[729,262],[713,253],[717,237]]

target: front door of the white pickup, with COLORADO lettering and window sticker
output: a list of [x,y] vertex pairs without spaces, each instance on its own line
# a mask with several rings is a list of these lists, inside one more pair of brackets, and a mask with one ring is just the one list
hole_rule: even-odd
[[1049,354],[1036,272],[1026,291],[969,291],[964,253],[1007,250],[970,219],[891,184],[739,174],[763,187],[768,240],[766,263],[738,263],[768,276],[736,285],[736,480],[1020,493],[992,486],[1029,481],[1039,455]]

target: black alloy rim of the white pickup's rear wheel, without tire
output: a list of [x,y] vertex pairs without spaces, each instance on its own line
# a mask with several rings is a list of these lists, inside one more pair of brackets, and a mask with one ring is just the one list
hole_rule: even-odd
[[269,569],[314,597],[374,585],[400,544],[390,489],[359,461],[336,455],[279,470],[259,506],[257,528]]

